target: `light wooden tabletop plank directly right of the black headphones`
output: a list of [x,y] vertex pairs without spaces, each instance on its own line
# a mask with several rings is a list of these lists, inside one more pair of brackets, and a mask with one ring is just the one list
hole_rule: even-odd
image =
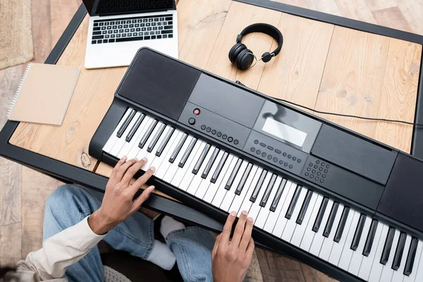
[[[259,92],[314,108],[333,25],[283,13],[281,53],[266,64]],[[271,49],[276,49],[277,43]]]

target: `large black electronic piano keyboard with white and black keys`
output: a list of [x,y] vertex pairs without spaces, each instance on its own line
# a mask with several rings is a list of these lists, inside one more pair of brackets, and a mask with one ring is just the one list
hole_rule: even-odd
[[259,92],[142,48],[90,142],[114,166],[341,281],[423,281],[423,163]]

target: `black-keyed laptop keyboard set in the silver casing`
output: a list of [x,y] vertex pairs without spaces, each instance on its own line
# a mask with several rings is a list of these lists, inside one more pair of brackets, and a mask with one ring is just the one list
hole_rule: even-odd
[[94,20],[92,44],[173,38],[173,15]]

